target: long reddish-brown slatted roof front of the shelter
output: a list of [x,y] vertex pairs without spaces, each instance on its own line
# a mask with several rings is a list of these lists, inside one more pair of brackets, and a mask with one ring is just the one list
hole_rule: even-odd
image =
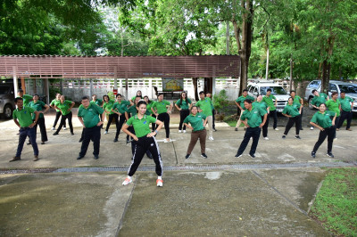
[[4,78],[238,78],[237,55],[0,56]]

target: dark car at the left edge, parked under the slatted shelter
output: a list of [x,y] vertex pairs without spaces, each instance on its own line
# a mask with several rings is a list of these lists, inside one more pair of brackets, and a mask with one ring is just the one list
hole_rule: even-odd
[[13,93],[12,83],[0,83],[0,114],[4,119],[12,119],[12,111],[15,110]]

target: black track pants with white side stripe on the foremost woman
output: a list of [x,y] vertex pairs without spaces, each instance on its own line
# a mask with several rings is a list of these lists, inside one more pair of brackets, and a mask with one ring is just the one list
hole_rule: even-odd
[[162,158],[160,155],[159,146],[157,145],[154,137],[146,136],[139,137],[139,140],[135,144],[135,152],[129,167],[128,176],[134,176],[137,168],[141,163],[141,160],[145,155],[145,151],[150,151],[153,154],[153,159],[156,165],[156,175],[162,176]]

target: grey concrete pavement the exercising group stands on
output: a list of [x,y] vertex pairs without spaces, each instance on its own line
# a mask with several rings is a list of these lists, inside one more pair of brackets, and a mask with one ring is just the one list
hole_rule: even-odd
[[[46,116],[47,128],[53,119]],[[218,123],[215,140],[206,143],[209,158],[200,157],[197,143],[185,159],[190,132],[179,134],[177,118],[171,121],[173,142],[162,142],[163,130],[157,136],[165,168],[162,188],[155,186],[151,159],[140,166],[149,171],[137,172],[134,184],[121,185],[131,155],[125,135],[112,142],[115,126],[102,135],[100,159],[93,159],[91,144],[87,156],[76,159],[81,127],[74,116],[75,135],[67,129],[53,136],[47,129],[49,142],[38,144],[40,160],[33,162],[32,148],[25,145],[21,161],[9,163],[17,128],[12,121],[0,123],[0,235],[329,235],[307,212],[326,174],[323,167],[356,167],[354,131],[338,132],[335,159],[326,156],[326,142],[311,159],[316,129],[304,129],[302,140],[292,130],[283,140],[282,128],[270,128],[270,140],[260,140],[255,159],[248,155],[251,143],[237,159],[244,131]]]

